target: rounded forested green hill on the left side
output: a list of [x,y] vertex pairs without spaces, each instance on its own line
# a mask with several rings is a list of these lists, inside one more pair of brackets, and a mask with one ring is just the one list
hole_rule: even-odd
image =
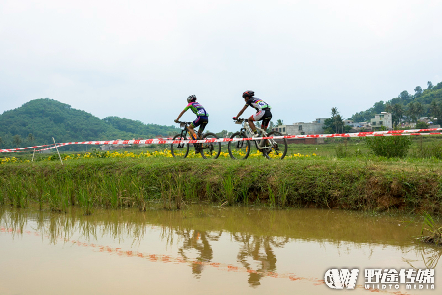
[[17,148],[57,142],[152,138],[179,131],[173,126],[144,124],[126,118],[103,120],[59,101],[31,100],[0,115],[0,147]]

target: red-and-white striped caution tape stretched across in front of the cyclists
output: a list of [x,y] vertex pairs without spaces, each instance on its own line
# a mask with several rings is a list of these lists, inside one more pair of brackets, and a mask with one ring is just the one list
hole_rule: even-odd
[[[307,135],[284,135],[284,136],[268,136],[268,137],[246,137],[246,138],[219,138],[219,139],[200,139],[200,140],[172,140],[170,138],[153,138],[153,139],[136,139],[136,140],[110,140],[110,141],[85,141],[85,142],[69,142],[56,144],[56,147],[67,145],[130,145],[130,144],[196,144],[196,143],[218,143],[218,142],[233,142],[243,140],[261,140],[261,139],[291,139],[291,138],[339,138],[339,137],[371,137],[371,136],[401,136],[401,135],[441,135],[442,128],[433,129],[414,129],[414,130],[391,130],[391,131],[373,131],[373,132],[358,132],[358,133],[342,133],[342,134],[307,134]],[[47,147],[51,145],[43,145],[28,148],[10,148],[0,149],[1,152],[21,152],[29,151],[32,148]],[[54,145],[50,148],[39,149],[46,150],[55,148]]]

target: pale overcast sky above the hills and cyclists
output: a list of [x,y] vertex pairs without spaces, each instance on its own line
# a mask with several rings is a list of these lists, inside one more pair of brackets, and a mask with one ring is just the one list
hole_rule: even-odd
[[0,114],[49,97],[173,125],[195,94],[208,130],[233,131],[251,89],[274,121],[348,118],[441,82],[441,15],[441,0],[0,0]]

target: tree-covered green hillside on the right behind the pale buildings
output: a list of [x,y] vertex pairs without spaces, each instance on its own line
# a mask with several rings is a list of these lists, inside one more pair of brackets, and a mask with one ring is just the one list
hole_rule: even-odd
[[[414,95],[409,94],[407,91],[402,91],[398,97],[392,98],[387,102],[382,100],[376,102],[368,110],[355,113],[351,119],[354,122],[369,121],[371,118],[374,118],[375,114],[389,111],[388,108],[396,104],[401,106],[402,116],[404,117],[414,117],[415,119],[433,116],[434,118],[442,118],[442,82],[433,86],[429,81],[427,89],[423,90],[420,86],[417,86],[414,91]],[[416,107],[417,105],[421,106],[420,111]],[[413,112],[412,110],[416,111]]]

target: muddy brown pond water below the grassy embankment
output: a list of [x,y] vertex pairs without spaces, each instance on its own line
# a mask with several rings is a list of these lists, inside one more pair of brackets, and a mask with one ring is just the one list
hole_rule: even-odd
[[[406,217],[212,206],[91,216],[0,208],[0,228],[1,295],[371,294],[364,269],[413,268],[434,268],[436,289],[401,284],[380,293],[442,288],[442,250],[415,242],[421,224]],[[327,287],[330,268],[359,268],[356,289]]]

